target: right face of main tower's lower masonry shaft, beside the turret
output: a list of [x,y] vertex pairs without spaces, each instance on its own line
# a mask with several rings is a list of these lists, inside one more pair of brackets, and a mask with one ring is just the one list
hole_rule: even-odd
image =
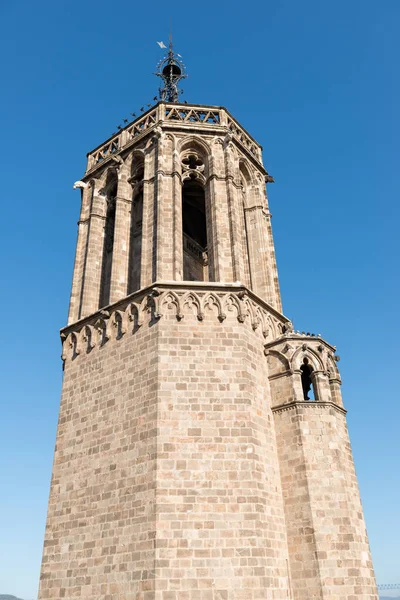
[[[207,312],[210,312],[210,315]],[[163,312],[156,597],[288,598],[285,523],[261,339],[210,307]]]

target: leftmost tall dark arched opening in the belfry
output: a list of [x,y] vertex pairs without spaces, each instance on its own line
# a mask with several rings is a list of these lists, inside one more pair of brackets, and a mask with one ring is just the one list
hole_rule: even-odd
[[110,303],[111,269],[114,249],[115,198],[117,195],[117,176],[114,172],[107,175],[105,192],[107,202],[106,222],[104,226],[103,260],[101,268],[101,286],[99,307]]

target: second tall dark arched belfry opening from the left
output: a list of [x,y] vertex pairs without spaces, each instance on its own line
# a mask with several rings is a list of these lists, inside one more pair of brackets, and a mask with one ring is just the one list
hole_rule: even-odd
[[129,245],[128,294],[140,289],[142,260],[142,220],[143,220],[143,160],[134,159],[132,163],[131,185],[131,233]]

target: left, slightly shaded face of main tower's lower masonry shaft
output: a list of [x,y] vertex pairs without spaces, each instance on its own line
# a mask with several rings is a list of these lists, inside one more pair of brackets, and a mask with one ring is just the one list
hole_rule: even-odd
[[154,589],[157,337],[139,329],[66,360],[41,600]]

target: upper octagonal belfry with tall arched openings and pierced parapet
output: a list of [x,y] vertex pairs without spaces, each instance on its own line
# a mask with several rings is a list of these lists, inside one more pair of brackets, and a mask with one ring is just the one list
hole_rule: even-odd
[[241,282],[280,311],[261,147],[160,102],[88,154],[69,323],[156,281]]

